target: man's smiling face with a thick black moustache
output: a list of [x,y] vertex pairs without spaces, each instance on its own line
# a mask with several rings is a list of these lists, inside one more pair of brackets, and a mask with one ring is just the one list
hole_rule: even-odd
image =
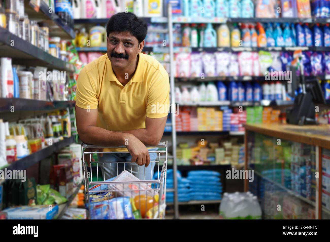
[[107,55],[111,65],[117,68],[133,65],[143,45],[144,41],[139,44],[138,39],[129,31],[110,33],[107,40]]

